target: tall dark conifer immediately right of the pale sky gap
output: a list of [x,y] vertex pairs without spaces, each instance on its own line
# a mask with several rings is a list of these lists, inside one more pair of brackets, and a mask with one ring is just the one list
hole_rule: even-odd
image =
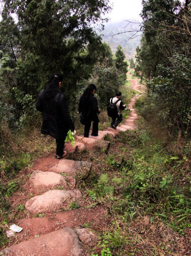
[[[141,40],[142,50],[138,48],[137,62],[141,76],[150,79],[158,75],[157,65],[168,62],[166,55],[164,55],[166,45],[163,44],[163,37],[159,31],[163,24],[169,26],[174,24],[175,12],[181,4],[174,0],[142,0],[142,5],[141,17],[143,19],[144,39]],[[146,49],[146,53],[143,49]],[[147,67],[144,63],[146,59],[150,60]]]

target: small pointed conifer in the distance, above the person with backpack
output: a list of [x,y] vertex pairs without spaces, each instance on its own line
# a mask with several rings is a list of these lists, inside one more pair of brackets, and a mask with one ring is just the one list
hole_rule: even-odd
[[127,61],[125,60],[125,54],[122,50],[121,45],[118,45],[115,53],[115,66],[119,73],[119,80],[124,83],[127,79]]

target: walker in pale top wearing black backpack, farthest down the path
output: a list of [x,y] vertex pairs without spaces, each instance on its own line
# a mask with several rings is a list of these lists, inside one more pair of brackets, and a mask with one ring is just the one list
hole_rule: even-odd
[[112,117],[111,127],[117,129],[117,126],[122,122],[122,111],[126,108],[126,105],[123,104],[122,93],[117,91],[116,96],[111,98],[107,106],[107,114],[109,117]]

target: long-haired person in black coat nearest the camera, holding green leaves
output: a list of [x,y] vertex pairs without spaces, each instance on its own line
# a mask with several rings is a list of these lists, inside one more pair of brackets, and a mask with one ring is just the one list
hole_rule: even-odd
[[64,141],[69,129],[74,131],[75,127],[70,117],[66,98],[61,92],[63,77],[60,74],[53,74],[49,82],[40,92],[36,108],[42,112],[41,133],[48,134],[56,139],[55,158],[65,157]]

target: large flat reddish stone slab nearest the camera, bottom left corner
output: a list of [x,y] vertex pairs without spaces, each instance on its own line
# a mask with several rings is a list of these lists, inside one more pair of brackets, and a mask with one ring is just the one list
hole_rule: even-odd
[[83,256],[86,247],[69,228],[60,229],[2,250],[5,256]]

